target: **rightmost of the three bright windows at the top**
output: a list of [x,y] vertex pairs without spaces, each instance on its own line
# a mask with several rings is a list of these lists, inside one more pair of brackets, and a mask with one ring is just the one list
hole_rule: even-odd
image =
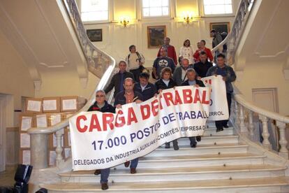
[[232,0],[203,0],[205,15],[232,14]]

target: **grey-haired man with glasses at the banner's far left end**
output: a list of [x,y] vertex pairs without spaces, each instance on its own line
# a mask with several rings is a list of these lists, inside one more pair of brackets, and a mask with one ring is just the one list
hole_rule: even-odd
[[[115,108],[108,101],[105,101],[105,92],[103,90],[96,91],[96,102],[89,107],[87,111],[101,111],[103,113],[115,113]],[[97,169],[95,175],[101,174],[101,189],[108,190],[108,176],[110,169]]]

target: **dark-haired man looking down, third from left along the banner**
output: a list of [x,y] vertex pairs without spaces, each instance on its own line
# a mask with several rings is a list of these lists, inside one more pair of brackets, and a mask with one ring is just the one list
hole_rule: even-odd
[[142,94],[142,99],[147,101],[156,94],[156,86],[149,83],[149,73],[140,73],[140,83],[135,83],[135,92]]

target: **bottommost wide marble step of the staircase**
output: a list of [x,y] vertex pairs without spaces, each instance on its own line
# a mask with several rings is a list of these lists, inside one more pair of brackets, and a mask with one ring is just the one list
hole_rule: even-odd
[[[232,180],[185,180],[145,183],[113,183],[105,192],[286,192],[289,178],[245,178]],[[54,183],[40,185],[49,192],[100,192],[95,183]]]

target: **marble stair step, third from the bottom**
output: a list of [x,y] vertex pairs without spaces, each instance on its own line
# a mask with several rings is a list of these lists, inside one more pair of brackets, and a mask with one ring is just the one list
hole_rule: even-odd
[[[179,166],[223,166],[223,164],[264,164],[265,155],[252,155],[249,153],[226,153],[213,155],[171,155],[171,156],[145,156],[140,157],[138,168],[168,168]],[[124,164],[116,166],[124,168]]]

